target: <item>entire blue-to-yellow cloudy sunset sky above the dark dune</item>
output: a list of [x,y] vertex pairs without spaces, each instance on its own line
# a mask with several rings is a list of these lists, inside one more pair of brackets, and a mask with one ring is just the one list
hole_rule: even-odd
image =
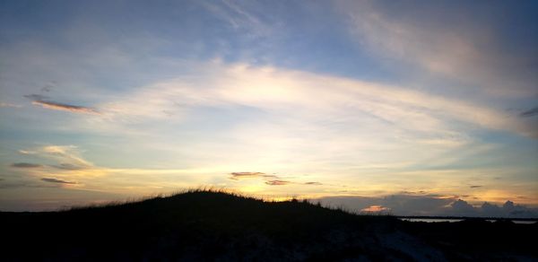
[[0,210],[226,188],[537,217],[536,10],[2,1]]

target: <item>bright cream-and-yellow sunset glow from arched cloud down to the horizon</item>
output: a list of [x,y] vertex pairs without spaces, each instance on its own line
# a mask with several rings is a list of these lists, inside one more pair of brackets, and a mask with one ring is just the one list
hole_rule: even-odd
[[[179,77],[143,86],[125,100],[96,105],[102,114],[81,118],[71,128],[99,132],[104,127],[108,134],[138,141],[137,150],[151,152],[157,143],[161,151],[190,155],[188,161],[211,170],[97,167],[82,159],[75,146],[48,145],[24,152],[55,160],[49,165],[56,167],[55,177],[76,180],[74,187],[123,194],[211,184],[266,196],[286,196],[291,189],[308,196],[338,195],[342,190],[374,196],[426,188],[431,193],[467,195],[472,190],[462,182],[471,183],[485,170],[439,170],[432,167],[435,162],[461,163],[469,155],[494,149],[494,144],[473,141],[476,128],[534,135],[516,116],[404,87],[275,67],[221,62],[204,67],[208,69],[198,72],[197,82]],[[255,117],[233,121],[243,112],[219,113],[236,108]],[[205,109],[216,115],[204,115]],[[165,111],[180,111],[181,117]],[[196,118],[230,118],[233,125],[219,128],[216,139],[191,134],[186,141],[174,133],[183,125],[200,125]],[[152,130],[155,121],[162,121],[161,133]],[[150,128],[129,132],[138,127]],[[461,151],[467,154],[441,157]],[[38,177],[49,175],[49,170],[33,172]],[[237,179],[228,179],[230,173]],[[234,181],[238,179],[242,181]],[[437,188],[438,181],[442,184]],[[490,201],[495,199],[490,192],[481,190],[473,196]]]

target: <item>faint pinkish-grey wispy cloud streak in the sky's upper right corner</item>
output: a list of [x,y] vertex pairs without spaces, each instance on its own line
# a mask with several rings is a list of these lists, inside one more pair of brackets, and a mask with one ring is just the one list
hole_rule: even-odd
[[471,4],[455,16],[445,12],[454,7],[450,2],[424,4],[418,10],[399,4],[397,12],[391,4],[376,1],[339,3],[359,45],[391,63],[399,61],[406,69],[413,65],[463,82],[464,89],[496,97],[527,98],[537,93],[535,50],[521,45],[535,46],[536,40],[518,43],[510,32],[492,31],[499,29],[493,25],[499,22],[494,13],[504,13],[510,6],[499,4],[490,9],[489,17],[477,19],[473,11],[493,6]]

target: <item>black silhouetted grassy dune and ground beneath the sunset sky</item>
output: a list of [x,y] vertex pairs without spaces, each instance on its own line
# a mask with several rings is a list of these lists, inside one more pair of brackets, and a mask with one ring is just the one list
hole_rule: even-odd
[[538,260],[536,223],[409,223],[208,191],[0,222],[0,261]]

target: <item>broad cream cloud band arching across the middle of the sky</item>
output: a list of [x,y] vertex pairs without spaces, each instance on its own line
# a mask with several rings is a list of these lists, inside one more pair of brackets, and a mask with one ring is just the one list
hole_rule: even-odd
[[[181,78],[154,83],[128,100],[103,107],[117,112],[117,118],[142,117],[139,121],[164,117],[163,110],[178,111],[175,100],[181,101],[183,110],[247,106],[266,110],[274,117],[282,115],[302,122],[325,121],[331,117],[347,123],[377,120],[376,126],[391,125],[409,135],[421,134],[423,143],[439,145],[464,142],[465,135],[453,129],[455,121],[538,136],[534,127],[499,109],[403,86],[244,64],[213,63],[207,68],[212,77],[200,83]],[[330,89],[326,88],[327,83]],[[320,99],[308,99],[310,95]],[[139,110],[143,103],[146,106]],[[350,109],[358,113],[354,118],[349,115]],[[147,114],[141,113],[144,111]]]

